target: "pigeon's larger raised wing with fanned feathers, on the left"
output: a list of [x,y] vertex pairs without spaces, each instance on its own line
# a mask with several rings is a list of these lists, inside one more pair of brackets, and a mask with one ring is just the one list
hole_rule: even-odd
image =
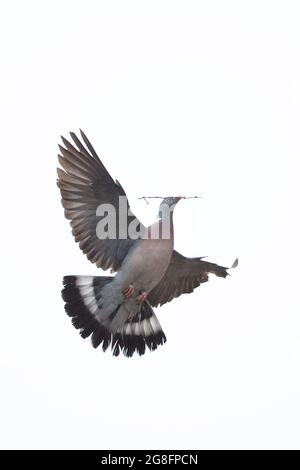
[[[119,197],[123,196],[124,212],[130,211],[126,193],[118,181],[114,181],[86,135],[80,131],[83,143],[70,132],[74,144],[62,137],[64,146],[59,145],[61,155],[57,185],[61,192],[61,202],[65,216],[70,220],[75,241],[88,259],[98,268],[117,271],[131,246],[136,240],[128,235],[128,226],[133,222],[137,231],[144,226],[130,212],[125,227],[119,226]],[[96,211],[100,204],[111,204],[115,209],[116,231],[113,237],[99,238],[96,233],[101,217]],[[121,220],[124,220],[122,214]],[[104,214],[102,214],[102,218]],[[126,220],[126,219],[125,219]],[[122,230],[120,237],[119,229]],[[116,235],[116,237],[115,237]]]

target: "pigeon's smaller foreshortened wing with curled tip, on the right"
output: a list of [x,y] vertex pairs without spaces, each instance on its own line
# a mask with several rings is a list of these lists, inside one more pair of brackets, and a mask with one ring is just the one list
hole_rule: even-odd
[[[236,259],[232,268],[236,267]],[[186,258],[173,251],[169,267],[160,283],[154,287],[148,296],[153,307],[170,302],[181,294],[189,294],[203,282],[208,281],[210,273],[219,277],[228,276],[228,268],[203,261],[201,258]]]

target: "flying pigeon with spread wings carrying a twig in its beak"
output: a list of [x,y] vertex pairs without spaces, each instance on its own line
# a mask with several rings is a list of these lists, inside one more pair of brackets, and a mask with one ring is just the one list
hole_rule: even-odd
[[[72,143],[61,137],[57,185],[62,206],[83,253],[97,268],[115,274],[65,276],[65,311],[83,338],[91,336],[94,348],[110,346],[114,356],[141,356],[166,342],[154,307],[193,292],[209,274],[226,278],[230,268],[174,250],[173,212],[182,196],[164,198],[158,219],[145,227],[130,210],[121,184],[81,130],[80,135],[70,132]],[[103,209],[112,210],[109,233],[104,230],[109,211]]]

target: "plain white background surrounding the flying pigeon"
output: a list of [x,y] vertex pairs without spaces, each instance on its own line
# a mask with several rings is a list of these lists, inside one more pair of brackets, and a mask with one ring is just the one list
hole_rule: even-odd
[[[300,7],[295,1],[2,2],[3,448],[299,448]],[[157,310],[168,341],[113,358],[64,313],[101,274],[56,188],[85,130],[144,221],[194,195],[176,248],[240,265]]]

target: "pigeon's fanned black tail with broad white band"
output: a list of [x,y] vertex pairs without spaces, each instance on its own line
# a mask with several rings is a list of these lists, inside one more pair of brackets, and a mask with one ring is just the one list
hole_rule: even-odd
[[[113,279],[111,276],[64,277],[62,297],[65,310],[81,336],[87,338],[92,335],[94,348],[102,345],[103,351],[111,345],[114,356],[120,352],[127,357],[131,357],[134,352],[142,355],[146,347],[153,351],[158,345],[164,344],[165,334],[147,301],[137,307],[134,299],[126,301],[117,297],[114,310],[109,315],[103,311],[101,292]],[[130,315],[132,302],[134,314]],[[124,318],[117,329],[113,326],[116,318]]]

